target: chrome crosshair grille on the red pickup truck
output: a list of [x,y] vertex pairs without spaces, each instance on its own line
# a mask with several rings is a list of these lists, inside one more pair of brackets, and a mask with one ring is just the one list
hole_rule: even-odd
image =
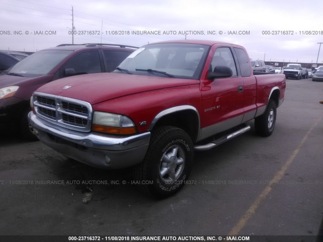
[[83,132],[91,129],[92,106],[88,102],[35,92],[33,105],[37,115],[52,124]]

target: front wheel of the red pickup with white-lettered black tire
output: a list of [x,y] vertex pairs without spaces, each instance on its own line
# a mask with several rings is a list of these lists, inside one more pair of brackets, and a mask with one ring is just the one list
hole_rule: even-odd
[[142,190],[157,198],[177,193],[188,178],[194,159],[194,147],[188,134],[179,128],[164,126],[152,131],[144,161],[134,168]]

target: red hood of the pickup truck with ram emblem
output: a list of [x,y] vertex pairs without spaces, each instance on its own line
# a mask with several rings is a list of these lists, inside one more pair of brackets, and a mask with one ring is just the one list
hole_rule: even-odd
[[56,80],[40,87],[37,92],[75,98],[93,105],[130,94],[199,83],[199,80],[191,79],[97,73]]

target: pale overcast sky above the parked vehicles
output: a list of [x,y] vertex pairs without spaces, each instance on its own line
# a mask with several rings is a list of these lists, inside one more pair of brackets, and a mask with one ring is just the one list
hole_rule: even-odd
[[[242,45],[253,59],[316,63],[317,43],[323,42],[321,0],[0,2],[0,49],[5,50],[37,51],[72,43],[72,6],[75,44],[142,46],[163,40],[208,39]],[[323,44],[318,63],[323,63]]]

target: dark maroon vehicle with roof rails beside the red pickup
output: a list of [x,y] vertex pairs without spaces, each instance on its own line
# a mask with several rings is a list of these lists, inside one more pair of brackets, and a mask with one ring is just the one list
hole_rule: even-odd
[[25,138],[34,140],[27,120],[32,93],[38,87],[60,78],[111,72],[137,48],[108,45],[63,44],[17,61],[17,65],[0,75],[0,129],[15,124]]

